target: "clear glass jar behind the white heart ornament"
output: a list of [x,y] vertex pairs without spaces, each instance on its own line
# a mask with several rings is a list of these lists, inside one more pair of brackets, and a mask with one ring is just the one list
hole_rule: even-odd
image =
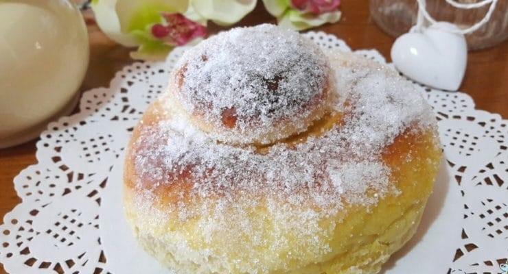
[[[481,0],[455,0],[459,3],[476,3]],[[470,27],[481,21],[489,5],[464,10],[454,8],[445,0],[427,0],[426,10],[436,21],[448,21],[459,27]],[[393,37],[408,32],[415,25],[418,5],[416,0],[370,0],[374,21]],[[469,49],[492,47],[508,38],[508,1],[499,0],[490,21],[465,36]]]

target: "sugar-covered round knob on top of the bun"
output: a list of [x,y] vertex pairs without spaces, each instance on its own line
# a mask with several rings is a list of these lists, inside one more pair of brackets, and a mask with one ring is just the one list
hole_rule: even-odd
[[330,67],[323,52],[274,25],[213,36],[187,51],[176,68],[178,101],[224,141],[272,142],[281,123],[286,130],[275,140],[297,134],[319,119],[316,109],[327,102]]

